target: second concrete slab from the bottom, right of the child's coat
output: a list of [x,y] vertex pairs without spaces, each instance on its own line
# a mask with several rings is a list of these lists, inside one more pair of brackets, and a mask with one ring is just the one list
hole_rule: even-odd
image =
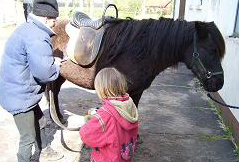
[[180,107],[140,107],[140,128],[151,133],[221,135],[215,111]]

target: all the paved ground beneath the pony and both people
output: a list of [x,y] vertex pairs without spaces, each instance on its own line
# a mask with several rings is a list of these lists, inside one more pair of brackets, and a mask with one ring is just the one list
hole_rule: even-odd
[[[3,43],[4,38],[0,38]],[[0,50],[2,46],[0,44]],[[222,138],[225,132],[215,109],[211,108],[205,93],[195,87],[193,75],[180,64],[177,70],[167,69],[161,73],[144,92],[139,104],[141,143],[133,162],[237,161],[232,142]],[[84,115],[86,109],[98,105],[92,91],[67,82],[59,97],[70,125],[80,124],[82,120],[81,116],[71,116],[71,113]],[[61,130],[50,121],[44,101],[41,106],[48,119],[48,139],[55,150],[64,154],[59,162],[88,162],[89,150],[82,148],[78,132]],[[0,162],[15,162],[19,136],[12,116],[2,108],[0,137]]]

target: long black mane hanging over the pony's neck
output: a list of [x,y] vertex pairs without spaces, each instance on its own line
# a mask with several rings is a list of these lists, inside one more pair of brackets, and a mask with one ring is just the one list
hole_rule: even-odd
[[123,20],[113,24],[105,33],[102,50],[111,62],[122,53],[135,59],[151,57],[155,61],[160,55],[161,67],[177,64],[179,53],[193,41],[194,23],[160,18],[145,20]]

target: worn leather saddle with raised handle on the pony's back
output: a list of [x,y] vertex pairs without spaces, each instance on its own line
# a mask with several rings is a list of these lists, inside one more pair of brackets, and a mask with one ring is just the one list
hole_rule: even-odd
[[[115,8],[116,18],[105,16],[105,12],[110,6]],[[70,24],[77,28],[77,32],[75,33],[78,36],[75,41],[74,50],[69,54],[69,58],[81,66],[90,65],[97,58],[105,30],[111,22],[117,19],[118,9],[113,4],[109,4],[105,8],[102,18],[98,20],[92,20],[85,13],[76,12]]]

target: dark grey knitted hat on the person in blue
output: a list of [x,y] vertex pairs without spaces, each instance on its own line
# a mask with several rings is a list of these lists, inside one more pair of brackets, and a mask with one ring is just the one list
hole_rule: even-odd
[[32,12],[37,16],[56,18],[59,16],[57,1],[34,0]]

